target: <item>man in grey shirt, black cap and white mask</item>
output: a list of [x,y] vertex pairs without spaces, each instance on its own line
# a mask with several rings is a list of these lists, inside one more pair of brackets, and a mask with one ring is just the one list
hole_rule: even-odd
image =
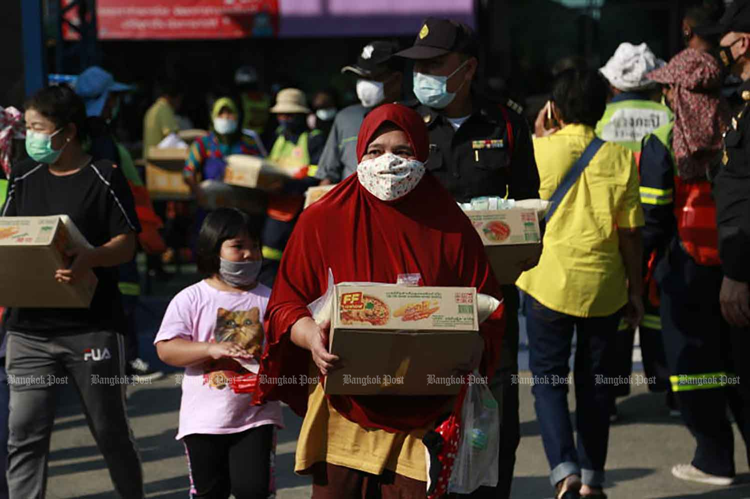
[[398,43],[374,40],[362,48],[356,64],[341,68],[341,73],[357,77],[359,104],[345,107],[336,115],[317,169],[311,175],[320,184],[338,184],[357,171],[357,134],[365,115],[375,106],[401,100],[403,64],[393,55]]

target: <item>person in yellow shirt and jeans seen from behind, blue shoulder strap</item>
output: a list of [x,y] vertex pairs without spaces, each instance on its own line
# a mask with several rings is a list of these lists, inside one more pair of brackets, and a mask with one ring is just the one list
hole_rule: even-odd
[[[567,70],[554,82],[560,130],[534,139],[539,194],[552,208],[541,260],[516,282],[528,295],[532,393],[550,482],[565,499],[606,497],[607,356],[623,308],[631,324],[643,316],[638,173],[631,151],[595,138],[606,99],[607,82],[593,70]],[[574,328],[577,446],[567,399]]]

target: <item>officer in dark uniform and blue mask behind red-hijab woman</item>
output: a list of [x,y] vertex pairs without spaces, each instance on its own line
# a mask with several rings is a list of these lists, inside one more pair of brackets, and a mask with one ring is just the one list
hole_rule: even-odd
[[[526,121],[506,103],[481,97],[472,85],[479,45],[469,26],[429,18],[414,46],[397,55],[414,60],[413,107],[430,132],[426,167],[458,202],[478,196],[538,198],[539,174]],[[538,261],[529,261],[529,268]],[[502,407],[499,482],[481,487],[472,497],[508,498],[520,441],[518,386],[518,291],[504,285],[507,324],[493,394]]]

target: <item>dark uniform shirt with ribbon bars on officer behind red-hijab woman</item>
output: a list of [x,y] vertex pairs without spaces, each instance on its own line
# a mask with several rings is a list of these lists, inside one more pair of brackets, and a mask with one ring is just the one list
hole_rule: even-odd
[[[473,112],[454,130],[439,110],[414,100],[430,132],[430,157],[426,163],[458,202],[479,196],[508,199],[539,197],[539,173],[534,160],[531,133],[526,121],[508,109],[512,137],[499,103],[475,97]],[[512,142],[512,154],[511,154]]]

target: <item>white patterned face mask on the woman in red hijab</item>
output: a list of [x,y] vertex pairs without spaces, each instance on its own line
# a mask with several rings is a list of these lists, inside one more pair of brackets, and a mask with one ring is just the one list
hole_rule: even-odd
[[362,161],[357,166],[359,183],[382,201],[403,198],[417,187],[424,176],[425,163],[392,153]]

